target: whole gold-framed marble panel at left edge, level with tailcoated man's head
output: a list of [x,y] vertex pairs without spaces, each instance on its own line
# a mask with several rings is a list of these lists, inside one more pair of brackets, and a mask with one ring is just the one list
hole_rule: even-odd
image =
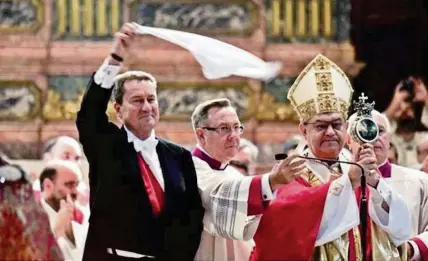
[[31,120],[40,111],[40,90],[31,81],[0,81],[0,120]]

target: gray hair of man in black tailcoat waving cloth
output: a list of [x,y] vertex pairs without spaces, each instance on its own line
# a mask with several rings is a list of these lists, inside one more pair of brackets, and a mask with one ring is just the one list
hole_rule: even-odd
[[115,84],[113,89],[113,98],[115,102],[122,104],[123,95],[125,94],[125,89],[123,86],[125,82],[131,81],[131,80],[142,81],[147,83],[150,86],[153,86],[154,88],[157,88],[156,79],[150,73],[146,73],[143,71],[127,71],[117,75],[114,78]]

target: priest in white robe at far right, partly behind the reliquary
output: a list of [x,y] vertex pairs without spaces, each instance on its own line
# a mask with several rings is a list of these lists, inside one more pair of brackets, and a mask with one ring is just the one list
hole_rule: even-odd
[[[379,137],[374,143],[377,164],[382,177],[405,200],[412,215],[412,239],[408,241],[409,260],[428,260],[428,175],[424,172],[391,164],[388,150],[391,127],[388,118],[378,111],[372,111],[373,120],[379,127]],[[356,115],[348,122],[352,124]],[[348,144],[354,151],[357,144],[348,135]]]

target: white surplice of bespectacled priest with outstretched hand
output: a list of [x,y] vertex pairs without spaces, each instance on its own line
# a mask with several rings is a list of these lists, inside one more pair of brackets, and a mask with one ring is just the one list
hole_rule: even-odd
[[195,260],[248,260],[260,222],[260,216],[247,216],[252,177],[230,166],[214,170],[197,157],[193,162],[205,208],[204,231]]

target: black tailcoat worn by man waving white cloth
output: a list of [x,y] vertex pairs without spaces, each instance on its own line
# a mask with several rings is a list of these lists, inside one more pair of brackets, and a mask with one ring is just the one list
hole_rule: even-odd
[[84,260],[112,259],[107,248],[161,260],[193,260],[203,229],[204,209],[192,156],[186,149],[157,138],[165,206],[159,216],[154,216],[137,152],[125,130],[108,121],[106,109],[111,92],[98,86],[92,77],[77,114],[91,188]]

